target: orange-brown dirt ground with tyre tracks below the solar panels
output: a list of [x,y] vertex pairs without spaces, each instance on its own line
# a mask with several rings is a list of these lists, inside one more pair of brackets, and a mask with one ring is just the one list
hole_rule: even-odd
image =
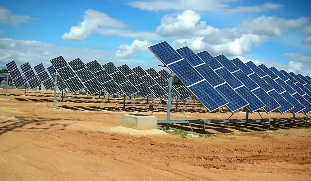
[[[53,109],[52,98],[46,107],[49,94],[24,96],[21,90],[10,90],[9,100],[4,100],[3,92],[0,90],[1,181],[311,180],[311,129],[305,122],[297,122],[297,127],[286,122],[285,128],[272,131],[263,123],[248,127],[231,123],[230,128],[209,123],[206,131],[202,125],[192,124],[195,132],[207,135],[204,137],[129,135],[109,129],[121,125],[123,114],[150,115],[150,111],[119,111],[122,104],[114,108],[115,103],[94,99],[64,100],[63,109],[58,101],[58,109]],[[153,115],[158,120],[166,118],[161,110]],[[231,113],[197,109],[186,115],[188,119],[228,119]],[[262,113],[263,118],[278,116]],[[292,114],[280,117],[291,118]],[[230,119],[244,118],[245,113],[239,112]],[[250,114],[249,119],[253,118],[260,115]],[[171,119],[184,119],[183,113],[173,111]],[[189,130],[181,124],[171,128]]]

